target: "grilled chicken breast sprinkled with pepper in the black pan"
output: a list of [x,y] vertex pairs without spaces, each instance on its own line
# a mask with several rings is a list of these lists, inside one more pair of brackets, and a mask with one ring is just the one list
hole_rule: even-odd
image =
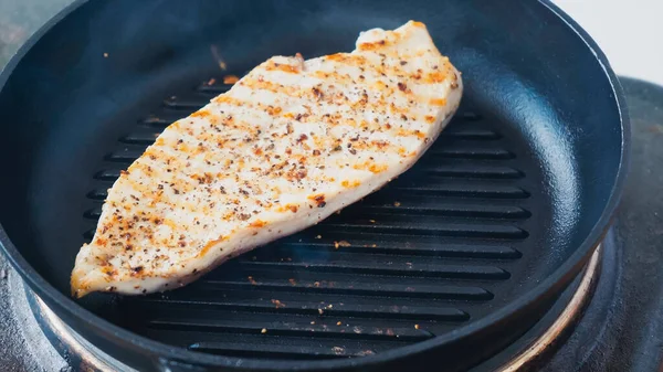
[[318,223],[410,168],[461,92],[420,22],[362,32],[351,53],[267,60],[122,173],[73,295],[177,288]]

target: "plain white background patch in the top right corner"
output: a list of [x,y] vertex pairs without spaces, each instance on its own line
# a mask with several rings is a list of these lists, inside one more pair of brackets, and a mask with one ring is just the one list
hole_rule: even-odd
[[552,0],[620,75],[663,85],[663,0]]

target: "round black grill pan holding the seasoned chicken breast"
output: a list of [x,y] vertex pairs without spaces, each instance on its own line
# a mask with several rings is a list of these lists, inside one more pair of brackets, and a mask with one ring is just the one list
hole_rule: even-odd
[[[69,298],[119,170],[274,54],[349,51],[423,21],[463,72],[455,119],[407,173],[162,295]],[[621,88],[535,1],[76,1],[0,77],[0,242],[74,330],[140,370],[461,370],[518,338],[615,208]]]

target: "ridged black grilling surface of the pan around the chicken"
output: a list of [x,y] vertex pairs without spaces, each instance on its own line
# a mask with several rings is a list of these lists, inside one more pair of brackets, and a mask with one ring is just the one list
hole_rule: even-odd
[[[218,81],[146,107],[99,159],[81,213],[86,240],[119,171],[166,126],[229,89]],[[188,287],[118,297],[104,316],[168,344],[269,359],[368,355],[476,320],[517,294],[509,289],[537,255],[529,235],[548,213],[537,164],[501,127],[464,105],[382,190]]]

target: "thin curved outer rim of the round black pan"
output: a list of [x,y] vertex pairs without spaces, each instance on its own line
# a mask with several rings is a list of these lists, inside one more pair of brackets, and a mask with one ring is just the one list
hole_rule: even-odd
[[[18,50],[12,56],[9,63],[0,73],[0,91],[6,85],[9,76],[13,70],[18,66],[23,56],[36,44],[39,40],[50,31],[54,25],[60,23],[66,15],[87,3],[90,0],[75,0],[62,11],[50,19],[42,28],[40,28],[28,41]],[[96,315],[90,310],[77,305],[73,299],[60,293],[53,287],[48,280],[45,280],[22,256],[22,254],[13,245],[4,228],[0,224],[0,248],[8,257],[12,267],[21,275],[23,280],[30,284],[38,296],[42,297],[46,302],[55,304],[69,317],[80,319],[86,327],[92,329],[94,332],[104,336],[108,340],[117,344],[125,344],[133,348],[147,349],[152,355],[168,355],[171,360],[180,360],[197,365],[208,366],[223,366],[223,368],[236,368],[236,369],[260,369],[264,371],[275,370],[332,370],[338,368],[351,368],[351,366],[368,366],[370,364],[378,364],[394,361],[407,355],[413,355],[424,352],[430,349],[435,349],[449,344],[451,341],[457,341],[463,338],[471,337],[474,333],[481,332],[488,329],[492,325],[503,322],[513,316],[533,306],[533,304],[540,301],[547,296],[547,294],[555,289],[566,287],[572,278],[575,278],[587,263],[596,246],[603,238],[604,234],[611,226],[611,221],[614,216],[614,212],[621,195],[623,193],[623,185],[627,179],[627,174],[630,168],[630,152],[631,152],[631,125],[623,94],[622,86],[610,66],[607,56],[599,49],[598,44],[591,39],[591,36],[580,28],[580,25],[573,21],[568,14],[554,4],[550,0],[538,0],[539,4],[547,8],[552,14],[559,18],[577,38],[579,38],[589,51],[594,54],[597,62],[600,64],[608,83],[614,95],[617,109],[620,116],[620,124],[622,129],[622,142],[620,162],[617,170],[614,185],[610,191],[610,196],[606,202],[606,206],[601,212],[600,217],[594,222],[589,234],[585,241],[577,247],[566,262],[564,262],[552,274],[546,279],[541,280],[530,290],[522,294],[515,298],[508,305],[498,309],[497,311],[486,316],[485,318],[478,319],[472,323],[465,325],[456,329],[453,334],[445,333],[438,336],[430,340],[412,343],[409,346],[387,350],[373,355],[367,355],[358,359],[338,359],[338,360],[324,360],[324,361],[278,361],[278,360],[251,360],[236,357],[221,357],[207,354],[196,351],[190,351],[185,348],[169,346],[156,340],[148,339],[146,337],[134,333],[119,326],[116,326]],[[154,360],[157,362],[157,360]],[[164,363],[165,361],[160,360]]]

